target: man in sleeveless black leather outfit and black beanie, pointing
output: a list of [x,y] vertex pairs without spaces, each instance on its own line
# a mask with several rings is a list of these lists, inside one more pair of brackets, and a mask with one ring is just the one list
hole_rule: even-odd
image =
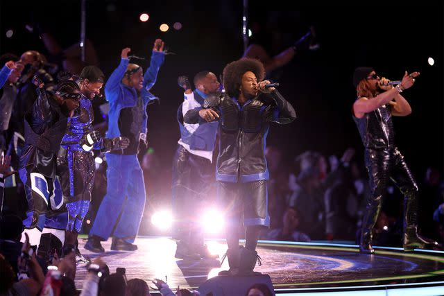
[[362,223],[359,250],[373,254],[372,231],[375,226],[382,196],[391,179],[404,195],[404,250],[413,248],[438,247],[418,234],[418,186],[404,161],[404,156],[395,146],[392,116],[407,116],[411,107],[401,95],[409,89],[419,76],[407,71],[396,87],[388,85],[390,80],[379,78],[369,67],[355,69],[353,84],[357,90],[357,100],[353,104],[353,118],[364,143],[364,160],[370,179],[371,194],[368,197],[366,214]]

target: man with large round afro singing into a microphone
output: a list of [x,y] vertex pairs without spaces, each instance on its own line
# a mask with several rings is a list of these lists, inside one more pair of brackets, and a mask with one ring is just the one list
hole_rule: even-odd
[[[203,108],[190,110],[185,123],[219,121],[216,180],[221,207],[228,221],[227,257],[230,270],[220,275],[254,275],[257,238],[269,227],[268,168],[264,150],[269,122],[291,123],[296,112],[264,79],[264,66],[244,58],[223,69],[226,95],[208,96]],[[244,218],[246,245],[239,247],[238,228]]]

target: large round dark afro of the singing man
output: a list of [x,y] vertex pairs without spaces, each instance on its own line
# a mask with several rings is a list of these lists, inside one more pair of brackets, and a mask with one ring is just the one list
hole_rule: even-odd
[[241,58],[225,66],[223,69],[223,87],[225,87],[228,96],[235,98],[239,96],[242,76],[248,71],[255,73],[258,81],[264,80],[265,69],[259,60]]

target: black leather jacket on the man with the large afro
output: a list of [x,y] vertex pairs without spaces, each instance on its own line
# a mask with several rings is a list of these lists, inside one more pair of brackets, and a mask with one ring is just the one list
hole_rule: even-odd
[[[268,180],[264,150],[269,122],[291,123],[296,119],[293,106],[278,90],[259,94],[239,105],[237,98],[226,95],[209,96],[204,108],[219,114],[219,155],[216,163],[216,180],[222,182],[253,182]],[[198,112],[189,110],[185,123],[205,123]]]

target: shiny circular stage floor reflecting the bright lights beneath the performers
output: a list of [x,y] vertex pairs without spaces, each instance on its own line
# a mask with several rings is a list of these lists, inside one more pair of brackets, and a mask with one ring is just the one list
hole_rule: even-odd
[[[167,278],[170,287],[197,288],[220,270],[218,260],[184,261],[174,258],[176,243],[170,238],[137,238],[135,252],[110,251],[111,240],[102,243],[104,261],[115,272],[126,268],[128,279]],[[79,247],[85,256],[97,254]],[[223,241],[207,241],[211,252],[223,256]],[[377,248],[375,255],[359,254],[352,245],[261,241],[257,248],[262,266],[256,271],[270,275],[276,293],[326,293],[348,290],[384,290],[395,287],[444,287],[444,252],[402,252]],[[86,270],[79,267],[76,287],[82,288]],[[152,284],[150,286],[153,286]],[[442,294],[444,294],[444,288]],[[441,294],[441,293],[439,293]],[[429,295],[439,295],[429,294]],[[419,294],[416,294],[419,295]]]

